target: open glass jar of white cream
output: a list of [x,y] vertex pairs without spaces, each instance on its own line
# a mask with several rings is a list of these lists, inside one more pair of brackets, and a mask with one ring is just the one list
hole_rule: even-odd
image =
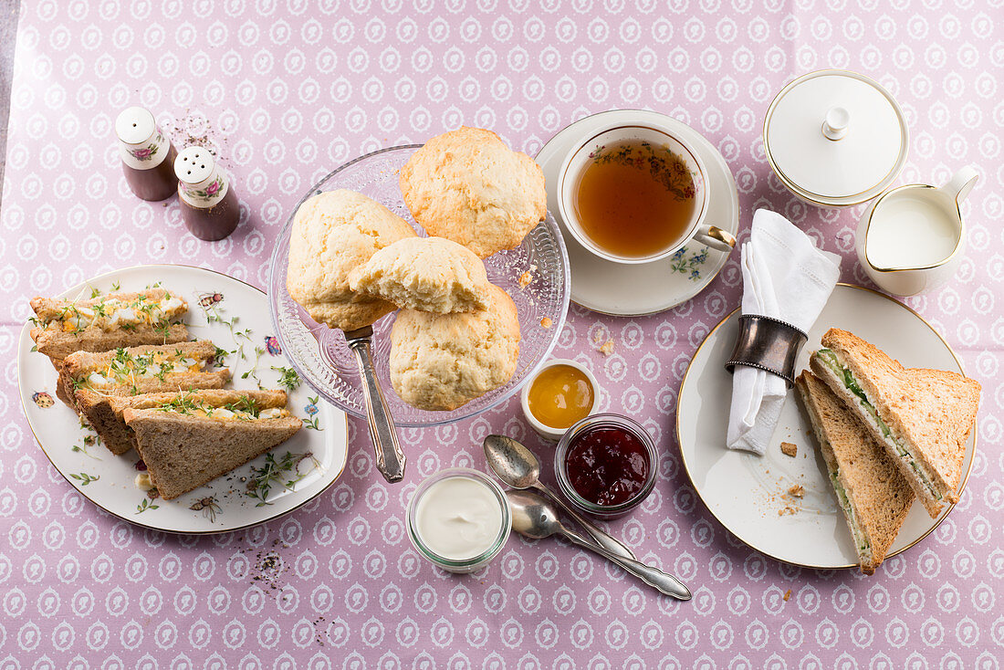
[[501,487],[470,468],[429,477],[408,505],[408,536],[423,556],[451,573],[473,573],[509,538],[512,515]]

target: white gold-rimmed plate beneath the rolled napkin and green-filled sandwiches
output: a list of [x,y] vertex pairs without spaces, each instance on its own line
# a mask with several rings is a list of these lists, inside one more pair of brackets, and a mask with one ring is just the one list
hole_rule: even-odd
[[[876,291],[838,284],[808,333],[796,370],[808,367],[822,334],[839,327],[874,344],[908,368],[934,368],[962,373],[955,353],[920,314]],[[857,565],[850,530],[837,505],[826,466],[802,416],[797,392],[784,403],[781,419],[764,456],[725,446],[732,397],[732,376],[724,368],[739,331],[739,310],[708,333],[684,375],[677,401],[677,440],[684,468],[698,496],[722,524],[753,548],[778,561],[806,568],[851,568]],[[976,426],[966,443],[963,477],[966,486],[976,450]],[[781,442],[798,447],[795,458],[781,453]],[[786,494],[800,484],[801,499]],[[952,511],[928,516],[914,502],[889,556],[907,549],[934,530]]]

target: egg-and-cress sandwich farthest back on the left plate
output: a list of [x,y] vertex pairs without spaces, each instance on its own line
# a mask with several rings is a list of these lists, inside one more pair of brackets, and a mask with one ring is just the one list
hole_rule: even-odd
[[188,303],[163,288],[85,300],[34,297],[31,308],[35,311],[31,339],[57,368],[73,352],[107,352],[188,340],[188,329],[179,322],[188,311]]

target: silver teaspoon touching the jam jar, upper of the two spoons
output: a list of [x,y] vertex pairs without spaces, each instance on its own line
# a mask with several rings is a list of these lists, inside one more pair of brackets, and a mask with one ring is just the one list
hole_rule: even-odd
[[488,465],[499,479],[513,488],[532,488],[539,491],[575,519],[575,522],[607,551],[626,559],[637,559],[625,544],[585,519],[540,483],[540,460],[526,446],[505,435],[489,435],[485,438],[484,447]]

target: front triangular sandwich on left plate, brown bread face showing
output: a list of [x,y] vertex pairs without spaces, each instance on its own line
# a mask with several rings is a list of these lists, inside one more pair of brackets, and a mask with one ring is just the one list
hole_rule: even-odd
[[112,398],[161,497],[176,498],[260,456],[303,422],[284,391],[206,390]]

